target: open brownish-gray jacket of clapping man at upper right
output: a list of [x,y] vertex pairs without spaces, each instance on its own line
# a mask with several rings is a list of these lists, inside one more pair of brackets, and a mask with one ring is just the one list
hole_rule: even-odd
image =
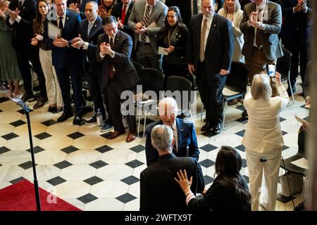
[[[282,26],[282,10],[279,4],[272,1],[268,1],[266,5],[267,14],[265,9],[265,16],[263,18],[265,27],[264,30],[260,30],[260,35],[266,57],[268,60],[276,60],[283,56],[280,41],[278,40],[278,33]],[[248,24],[249,15],[253,11],[256,11],[256,4],[254,2],[244,6],[243,18],[240,25],[240,30],[244,34],[242,54],[246,57],[251,56],[254,42],[254,27]]]

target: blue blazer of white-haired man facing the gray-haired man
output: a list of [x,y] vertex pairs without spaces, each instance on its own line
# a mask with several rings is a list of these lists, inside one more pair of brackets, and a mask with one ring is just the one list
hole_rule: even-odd
[[[153,127],[158,124],[163,124],[163,121],[159,120],[147,129],[147,141],[145,143],[147,166],[154,164],[154,162],[156,162],[159,158],[159,153],[151,144],[151,131]],[[178,127],[178,153],[175,155],[178,157],[189,156],[195,158],[198,162],[199,148],[194,124],[192,122],[185,122],[185,120],[176,118],[176,127]],[[188,153],[186,150],[187,146],[189,146]]]

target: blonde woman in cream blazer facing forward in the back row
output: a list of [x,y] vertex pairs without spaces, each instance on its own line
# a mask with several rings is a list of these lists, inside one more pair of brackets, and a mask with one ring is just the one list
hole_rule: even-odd
[[223,8],[220,8],[218,14],[232,22],[232,32],[235,37],[235,49],[232,60],[244,63],[244,56],[241,53],[244,39],[240,30],[243,11],[241,10],[240,2],[238,0],[225,0]]

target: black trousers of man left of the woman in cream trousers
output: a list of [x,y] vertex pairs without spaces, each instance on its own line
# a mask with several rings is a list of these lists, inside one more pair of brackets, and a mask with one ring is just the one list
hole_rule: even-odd
[[42,71],[41,63],[39,62],[39,47],[30,46],[26,48],[25,46],[17,46],[16,56],[18,59],[18,66],[23,78],[23,86],[27,94],[32,94],[32,75],[30,71],[30,62],[32,63],[32,68],[37,74],[37,79],[39,80],[39,91],[43,98],[47,98],[45,77]]

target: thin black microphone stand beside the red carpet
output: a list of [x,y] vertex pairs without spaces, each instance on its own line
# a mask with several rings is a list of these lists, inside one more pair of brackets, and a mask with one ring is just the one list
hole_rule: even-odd
[[37,171],[35,168],[35,157],[34,157],[34,149],[33,149],[33,141],[32,141],[32,132],[31,132],[31,123],[30,123],[30,108],[22,101],[21,98],[17,96],[12,96],[10,91],[4,86],[0,84],[0,93],[4,94],[6,98],[10,99],[21,108],[23,108],[25,112],[25,117],[27,118],[27,130],[29,132],[29,139],[30,139],[30,151],[31,151],[31,158],[32,158],[32,167],[33,167],[33,176],[34,176],[34,188],[35,188],[35,200],[37,204],[37,211],[41,211],[41,202],[39,200],[39,184],[37,183]]

